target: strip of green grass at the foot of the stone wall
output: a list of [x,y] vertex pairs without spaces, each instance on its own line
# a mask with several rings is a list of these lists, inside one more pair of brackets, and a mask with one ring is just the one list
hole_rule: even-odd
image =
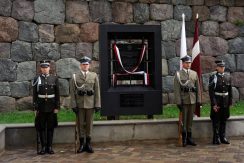
[[[244,101],[239,101],[231,107],[231,115],[244,115]],[[165,118],[177,118],[179,110],[175,105],[166,105],[163,107],[163,114],[154,115],[154,119],[165,119]],[[205,104],[201,109],[201,117],[209,117],[210,105]],[[59,122],[72,122],[75,119],[74,113],[70,109],[62,108],[58,113]],[[94,114],[94,119],[106,120],[106,117],[101,116],[100,113]],[[130,116],[120,116],[120,119],[147,119],[145,115],[130,115]],[[0,113],[0,124],[5,123],[33,123],[34,113],[32,111],[15,111],[8,113]]]

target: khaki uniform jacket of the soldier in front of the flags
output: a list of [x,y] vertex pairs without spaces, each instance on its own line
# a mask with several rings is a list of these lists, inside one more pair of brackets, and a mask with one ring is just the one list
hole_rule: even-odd
[[174,90],[177,105],[201,103],[199,80],[193,70],[188,70],[188,74],[184,70],[175,73]]

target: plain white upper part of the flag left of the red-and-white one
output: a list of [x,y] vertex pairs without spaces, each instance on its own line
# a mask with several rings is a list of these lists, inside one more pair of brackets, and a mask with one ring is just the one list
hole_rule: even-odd
[[[182,14],[182,28],[181,28],[181,40],[180,40],[180,58],[187,55],[186,48],[186,30],[185,30],[185,14]],[[182,69],[182,61],[180,60],[180,69]]]

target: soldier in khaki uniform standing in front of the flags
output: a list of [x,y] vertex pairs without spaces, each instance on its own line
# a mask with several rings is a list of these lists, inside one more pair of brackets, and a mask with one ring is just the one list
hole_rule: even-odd
[[181,58],[182,70],[177,71],[174,78],[175,100],[182,111],[182,145],[196,146],[192,140],[192,121],[196,104],[201,104],[201,92],[198,75],[191,70],[192,59],[186,55]]

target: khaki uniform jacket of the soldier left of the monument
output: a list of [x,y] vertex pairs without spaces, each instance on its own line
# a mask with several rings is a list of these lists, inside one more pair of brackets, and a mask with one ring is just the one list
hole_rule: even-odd
[[[75,78],[73,75],[70,91],[71,108],[91,109],[101,107],[100,86],[96,73],[89,71],[85,77],[80,71],[75,74]],[[87,92],[92,92],[92,94],[89,95]]]

